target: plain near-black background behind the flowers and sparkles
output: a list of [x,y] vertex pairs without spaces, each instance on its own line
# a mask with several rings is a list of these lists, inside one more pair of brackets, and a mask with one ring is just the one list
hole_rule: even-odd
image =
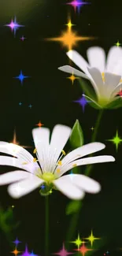
[[[11,8],[10,8],[10,7]],[[46,42],[44,39],[61,35],[68,22],[68,13],[72,18],[74,29],[79,35],[95,36],[94,41],[80,42],[76,50],[86,58],[86,50],[90,46],[102,46],[106,54],[117,40],[122,43],[122,2],[91,0],[91,5],[83,6],[80,14],[75,14],[72,6],[66,6],[65,1],[50,2],[34,1],[22,6],[9,5],[8,2],[0,4],[0,140],[11,141],[16,128],[17,140],[20,145],[32,146],[31,130],[41,121],[45,127],[52,129],[55,124],[66,124],[72,127],[76,119],[83,128],[85,143],[91,142],[91,127],[98,117],[98,110],[87,106],[83,113],[81,106],[73,101],[82,95],[78,81],[72,85],[67,80],[67,74],[57,68],[68,65],[65,54],[67,49],[60,43]],[[8,24],[14,15],[17,21],[24,24],[19,28],[16,37]],[[90,25],[89,25],[90,24]],[[20,41],[24,35],[27,39]],[[72,64],[73,65],[73,64]],[[75,65],[74,65],[75,66]],[[18,76],[20,69],[24,75],[31,76],[24,80],[21,86]],[[22,106],[19,106],[22,102]],[[28,105],[32,108],[29,109]],[[122,147],[116,153],[113,143],[105,139],[112,139],[118,129],[122,137],[122,109],[105,110],[98,130],[97,141],[106,144],[102,154],[112,154],[115,163],[94,165],[91,176],[102,184],[102,191],[98,195],[86,195],[81,210],[76,234],[81,237],[89,236],[91,229],[94,236],[105,236],[107,243],[94,255],[103,255],[109,250],[111,255],[119,255],[117,248],[122,247]],[[12,169],[12,168],[11,168]],[[4,173],[10,168],[1,168]],[[24,250],[28,243],[29,250],[35,254],[45,255],[45,198],[39,191],[13,200],[10,198],[6,186],[0,187],[0,202],[6,210],[14,205],[13,214],[20,226],[13,233],[14,239],[18,237],[23,242],[19,249]],[[70,216],[65,215],[68,198],[54,191],[50,195],[50,254],[60,250],[70,223]],[[7,242],[5,234],[0,236],[0,255],[11,255],[12,248]]]

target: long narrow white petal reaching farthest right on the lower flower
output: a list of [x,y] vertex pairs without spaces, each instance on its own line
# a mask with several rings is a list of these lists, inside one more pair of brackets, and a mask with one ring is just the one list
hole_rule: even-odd
[[[97,164],[97,163],[103,163],[103,162],[109,162],[109,161],[115,161],[115,158],[109,155],[102,155],[92,158],[82,158],[76,161],[72,161],[64,166],[61,167],[60,173],[58,173],[58,177],[62,176],[64,173],[68,172],[68,170],[72,169],[76,166],[80,165],[91,165],[91,164]],[[57,173],[57,171],[56,171]]]

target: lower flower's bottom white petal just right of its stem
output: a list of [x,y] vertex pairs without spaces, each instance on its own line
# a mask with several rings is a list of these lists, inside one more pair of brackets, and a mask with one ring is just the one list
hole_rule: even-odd
[[59,191],[61,191],[68,198],[78,200],[83,198],[84,196],[84,192],[82,190],[79,190],[78,187],[72,184],[72,181],[69,177],[67,177],[67,175],[62,176],[57,180],[54,180],[53,183],[59,189]]

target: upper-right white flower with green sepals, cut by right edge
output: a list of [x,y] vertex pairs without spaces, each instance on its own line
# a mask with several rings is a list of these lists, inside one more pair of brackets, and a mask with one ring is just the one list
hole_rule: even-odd
[[67,55],[83,72],[73,69],[69,65],[58,69],[91,81],[94,95],[90,91],[85,90],[85,87],[83,87],[83,91],[86,91],[87,95],[85,97],[92,102],[92,106],[98,109],[112,109],[122,106],[120,96],[116,97],[122,88],[122,47],[113,46],[109,50],[106,61],[105,51],[98,46],[87,50],[89,63],[76,50],[69,50]]

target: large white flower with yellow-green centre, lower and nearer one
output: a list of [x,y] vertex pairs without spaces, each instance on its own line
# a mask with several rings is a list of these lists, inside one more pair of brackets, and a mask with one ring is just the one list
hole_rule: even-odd
[[71,128],[57,124],[50,139],[48,128],[33,129],[34,153],[38,160],[33,158],[23,147],[13,143],[0,142],[0,152],[14,157],[0,156],[0,165],[11,165],[17,169],[24,169],[24,171],[17,170],[0,175],[0,185],[9,184],[8,192],[13,198],[20,198],[41,184],[48,186],[54,184],[57,190],[72,199],[83,198],[84,192],[98,193],[101,186],[91,178],[80,174],[72,174],[71,178],[70,174],[65,176],[63,174],[76,165],[115,161],[115,159],[109,155],[83,158],[87,154],[105,148],[102,143],[89,143],[65,155],[65,151],[62,149],[65,147],[71,131]]

